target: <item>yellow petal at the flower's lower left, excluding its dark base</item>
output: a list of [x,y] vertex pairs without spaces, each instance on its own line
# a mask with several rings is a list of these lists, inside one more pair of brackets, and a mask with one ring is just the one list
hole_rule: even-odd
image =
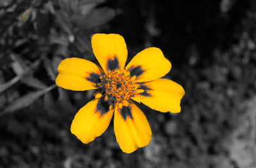
[[92,100],[82,107],[76,114],[71,125],[72,134],[87,144],[102,135],[108,128],[111,118],[113,116],[113,110],[102,114],[97,111],[97,105],[99,99]]

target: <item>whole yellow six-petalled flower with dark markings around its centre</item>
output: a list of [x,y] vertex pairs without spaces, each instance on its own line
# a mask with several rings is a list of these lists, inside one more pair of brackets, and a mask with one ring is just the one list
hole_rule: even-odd
[[74,91],[98,89],[95,99],[76,114],[72,134],[87,144],[108,128],[115,111],[116,141],[125,153],[147,146],[151,129],[132,100],[161,112],[180,112],[185,91],[176,82],[162,79],[172,67],[156,47],[142,50],[125,66],[127,47],[119,34],[94,34],[92,49],[102,69],[76,57],[61,61],[56,84]]

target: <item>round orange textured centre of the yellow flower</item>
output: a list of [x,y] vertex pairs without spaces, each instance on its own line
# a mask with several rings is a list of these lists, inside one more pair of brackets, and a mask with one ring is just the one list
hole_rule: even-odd
[[[135,83],[136,76],[124,70],[109,71],[100,77],[100,86],[104,89],[105,99],[116,105],[124,104],[129,98],[140,92],[139,84]],[[138,90],[137,90],[138,89]]]

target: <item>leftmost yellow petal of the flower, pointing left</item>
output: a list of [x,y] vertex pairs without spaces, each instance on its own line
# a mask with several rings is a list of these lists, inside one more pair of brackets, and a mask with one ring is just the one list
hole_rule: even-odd
[[96,89],[100,67],[77,57],[66,58],[58,66],[56,84],[64,89],[84,91]]

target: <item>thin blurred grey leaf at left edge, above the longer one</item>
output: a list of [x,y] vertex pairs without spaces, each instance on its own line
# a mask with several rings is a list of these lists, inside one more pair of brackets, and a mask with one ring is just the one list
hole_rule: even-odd
[[16,77],[14,77],[13,79],[9,80],[8,82],[1,84],[0,85],[0,94],[3,93],[4,91],[6,91],[6,89],[10,88],[11,86],[13,86],[13,84],[17,83],[20,79],[22,79],[22,77],[28,76],[31,73],[33,73],[35,71],[35,69],[38,67],[40,63],[40,60],[35,61],[28,69],[26,69],[23,73],[21,73],[20,75],[17,75]]

